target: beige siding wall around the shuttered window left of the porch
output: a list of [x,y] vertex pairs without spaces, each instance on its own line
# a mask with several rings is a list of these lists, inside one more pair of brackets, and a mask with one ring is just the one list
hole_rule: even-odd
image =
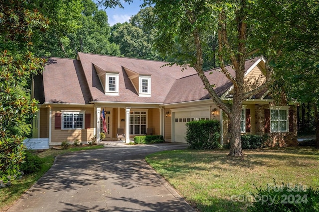
[[51,122],[51,143],[69,141],[73,142],[76,139],[82,142],[90,141],[94,133],[94,109],[93,108],[67,108],[67,110],[85,110],[85,113],[91,114],[91,129],[84,130],[60,130],[55,129],[55,113],[61,113],[61,108],[52,107],[52,122]]

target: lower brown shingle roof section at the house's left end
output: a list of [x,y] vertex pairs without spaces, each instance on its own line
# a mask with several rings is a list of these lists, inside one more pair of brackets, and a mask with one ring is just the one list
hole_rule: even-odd
[[77,60],[50,58],[42,75],[35,76],[34,84],[35,97],[40,103],[86,104],[92,99]]

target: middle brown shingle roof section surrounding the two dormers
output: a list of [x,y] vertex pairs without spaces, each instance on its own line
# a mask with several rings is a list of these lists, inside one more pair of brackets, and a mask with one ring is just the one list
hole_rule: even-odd
[[[176,79],[196,73],[196,71],[192,68],[181,71],[181,67],[179,66],[162,67],[167,64],[167,62],[160,61],[85,53],[79,53],[78,59],[81,61],[93,100],[103,102],[162,103]],[[92,64],[95,64],[105,71],[120,72],[119,96],[104,95],[103,87]],[[151,97],[140,97],[138,95],[123,68],[127,68],[139,74],[152,75]]]

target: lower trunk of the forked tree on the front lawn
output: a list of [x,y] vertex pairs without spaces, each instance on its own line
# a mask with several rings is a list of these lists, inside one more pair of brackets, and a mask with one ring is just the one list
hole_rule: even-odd
[[[236,100],[237,99],[237,100]],[[240,117],[241,117],[242,103],[235,98],[233,100],[233,107],[231,111],[230,122],[230,156],[242,156],[243,149],[241,147],[241,133],[240,133]]]

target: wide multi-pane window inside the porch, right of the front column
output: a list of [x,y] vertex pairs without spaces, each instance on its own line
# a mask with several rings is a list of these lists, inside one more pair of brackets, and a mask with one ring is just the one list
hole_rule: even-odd
[[147,125],[146,111],[130,112],[130,135],[145,135]]

